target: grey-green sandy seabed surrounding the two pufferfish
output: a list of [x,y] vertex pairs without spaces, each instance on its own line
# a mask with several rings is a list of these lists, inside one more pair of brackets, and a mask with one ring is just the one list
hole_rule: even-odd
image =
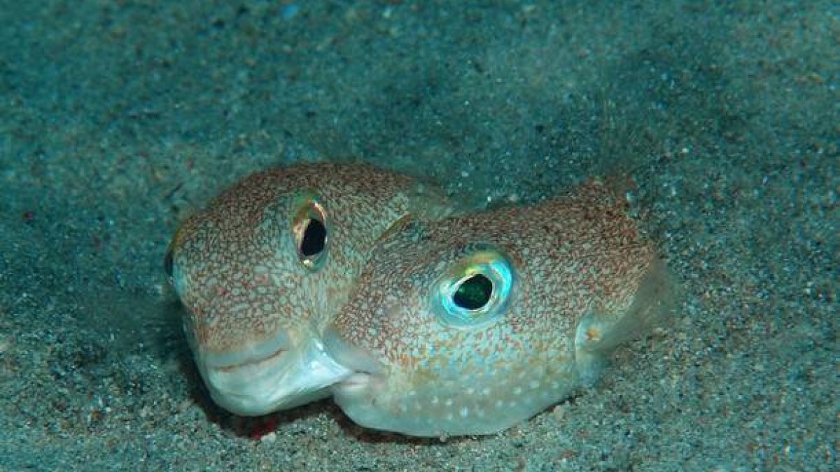
[[[0,469],[837,469],[837,3],[486,4],[3,2]],[[312,160],[475,208],[629,174],[678,316],[489,437],[329,401],[232,417],[165,247],[240,176]]]

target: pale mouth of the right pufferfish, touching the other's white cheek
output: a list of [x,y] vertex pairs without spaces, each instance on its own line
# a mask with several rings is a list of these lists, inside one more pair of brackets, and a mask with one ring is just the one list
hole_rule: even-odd
[[376,378],[386,374],[385,366],[366,349],[361,349],[341,337],[329,327],[323,334],[324,349],[335,362],[351,371],[344,380],[333,385],[333,391],[354,394],[364,391]]

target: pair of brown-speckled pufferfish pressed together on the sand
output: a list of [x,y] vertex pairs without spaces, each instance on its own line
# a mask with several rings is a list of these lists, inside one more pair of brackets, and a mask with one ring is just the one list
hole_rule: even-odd
[[332,396],[363,427],[419,437],[496,433],[563,401],[674,300],[601,181],[468,212],[359,164],[246,177],[181,225],[165,270],[219,406]]

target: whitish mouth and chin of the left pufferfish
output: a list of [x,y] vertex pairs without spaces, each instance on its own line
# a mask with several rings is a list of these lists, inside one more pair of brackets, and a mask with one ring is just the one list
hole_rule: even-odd
[[290,343],[286,333],[236,352],[196,361],[213,401],[228,412],[260,416],[329,396],[329,386],[352,373],[333,361],[313,333]]

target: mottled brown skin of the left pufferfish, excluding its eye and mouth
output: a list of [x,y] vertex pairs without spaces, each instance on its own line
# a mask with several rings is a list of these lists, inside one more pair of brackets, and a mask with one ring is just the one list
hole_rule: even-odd
[[[328,222],[328,249],[317,270],[302,265],[292,229],[307,195],[318,196]],[[319,336],[381,234],[407,215],[435,218],[444,208],[432,188],[370,165],[296,165],[228,188],[186,220],[171,243],[171,281],[186,307],[186,335],[205,380],[210,367],[235,370],[254,360],[250,351],[278,336],[288,338],[286,351]],[[243,374],[237,382],[255,389],[244,385],[247,380]],[[227,405],[217,398],[226,394],[210,386],[234,412],[275,408]],[[296,404],[286,400],[278,407]]]

